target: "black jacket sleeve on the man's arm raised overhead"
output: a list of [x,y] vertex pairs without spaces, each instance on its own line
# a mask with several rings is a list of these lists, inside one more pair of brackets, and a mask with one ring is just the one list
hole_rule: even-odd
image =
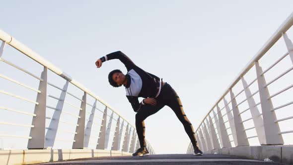
[[135,64],[128,58],[124,53],[121,51],[113,52],[110,54],[107,54],[104,57],[100,58],[102,62],[113,60],[113,59],[119,59],[126,67],[127,71],[132,70],[135,67]]

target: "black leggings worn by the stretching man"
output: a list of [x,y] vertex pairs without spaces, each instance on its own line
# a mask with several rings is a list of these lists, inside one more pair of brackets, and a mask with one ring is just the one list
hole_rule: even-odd
[[157,104],[155,106],[150,104],[145,104],[141,107],[141,109],[138,111],[138,113],[135,116],[136,129],[137,129],[141,147],[142,148],[146,147],[146,139],[145,139],[146,127],[145,127],[144,120],[148,116],[158,112],[165,105],[169,106],[175,112],[176,116],[183,124],[185,132],[189,136],[192,145],[197,146],[197,141],[195,138],[195,133],[193,131],[192,124],[187,119],[184,113],[180,98],[175,92],[175,90],[168,83],[165,83],[165,85],[162,87],[161,92],[159,96],[156,98],[156,100],[157,100]]

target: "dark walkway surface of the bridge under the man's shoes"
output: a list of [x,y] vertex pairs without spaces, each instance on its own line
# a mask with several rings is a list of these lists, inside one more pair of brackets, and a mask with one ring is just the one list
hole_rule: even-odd
[[71,161],[45,163],[39,165],[284,165],[245,158],[205,154],[193,156],[190,154],[150,155],[146,157],[101,157],[77,159]]

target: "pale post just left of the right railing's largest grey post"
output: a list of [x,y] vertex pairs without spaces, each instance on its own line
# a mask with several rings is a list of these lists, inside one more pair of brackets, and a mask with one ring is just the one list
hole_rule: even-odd
[[241,81],[242,81],[242,84],[244,87],[244,91],[246,94],[247,102],[249,105],[250,113],[251,113],[251,116],[253,119],[253,123],[255,126],[255,130],[257,133],[259,143],[261,145],[266,144],[266,136],[265,136],[263,118],[259,113],[259,110],[256,106],[255,101],[254,101],[254,98],[252,97],[252,93],[251,93],[251,91],[250,91],[250,89],[249,89],[249,87],[243,77],[241,77]]

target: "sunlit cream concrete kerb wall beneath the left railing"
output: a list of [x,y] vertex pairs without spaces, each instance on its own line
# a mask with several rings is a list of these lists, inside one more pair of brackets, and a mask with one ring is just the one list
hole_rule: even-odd
[[0,165],[27,165],[80,158],[115,157],[130,155],[131,153],[126,153],[122,151],[89,149],[3,150],[0,151]]

